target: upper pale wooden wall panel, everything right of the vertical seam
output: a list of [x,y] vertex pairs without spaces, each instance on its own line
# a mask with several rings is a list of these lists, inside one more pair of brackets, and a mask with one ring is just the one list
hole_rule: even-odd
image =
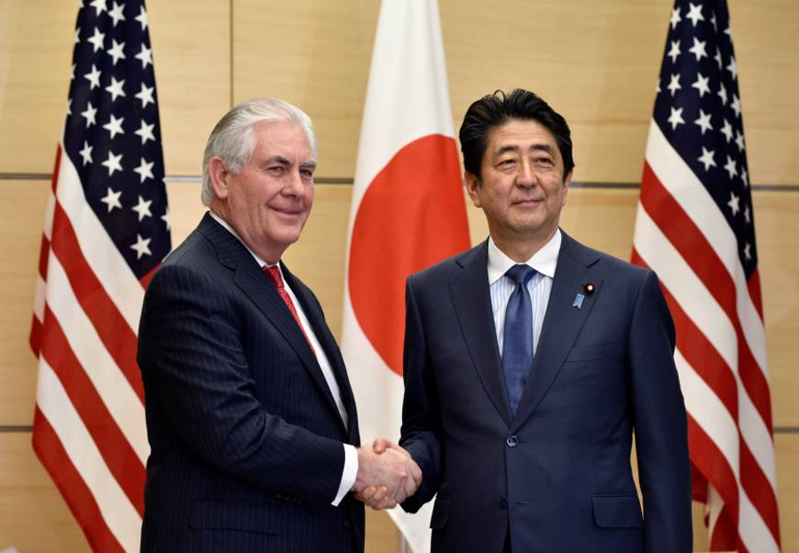
[[[473,100],[526,87],[571,123],[576,180],[638,181],[670,4],[439,5],[455,129]],[[731,9],[753,182],[795,183],[789,145],[799,140],[799,118],[786,115],[797,112],[799,79],[787,75],[799,75],[799,58],[773,52],[799,47],[799,5]],[[361,0],[301,0],[281,10],[235,0],[233,97],[275,95],[303,107],[320,137],[320,176],[352,177],[376,15],[376,3]]]

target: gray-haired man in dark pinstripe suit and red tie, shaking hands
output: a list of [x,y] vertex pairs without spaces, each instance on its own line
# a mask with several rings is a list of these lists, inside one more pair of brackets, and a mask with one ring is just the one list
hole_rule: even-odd
[[154,274],[139,326],[152,448],[142,551],[361,552],[351,491],[401,501],[421,482],[404,451],[359,447],[344,360],[281,262],[315,169],[311,120],[284,101],[240,104],[211,132],[210,211]]

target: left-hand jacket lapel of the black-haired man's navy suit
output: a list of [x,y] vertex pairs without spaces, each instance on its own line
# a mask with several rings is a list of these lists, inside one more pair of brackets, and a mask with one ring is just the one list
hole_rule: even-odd
[[483,387],[502,420],[510,426],[511,414],[508,394],[502,381],[502,360],[496,344],[496,328],[488,292],[488,242],[457,260],[463,273],[452,281],[450,295],[461,324],[461,332],[472,363]]

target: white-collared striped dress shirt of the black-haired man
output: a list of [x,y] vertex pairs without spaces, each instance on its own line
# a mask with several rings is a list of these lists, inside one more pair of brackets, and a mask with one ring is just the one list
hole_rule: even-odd
[[[542,249],[536,251],[533,257],[525,262],[536,271],[532,279],[527,282],[530,299],[533,300],[533,352],[538,351],[538,338],[541,336],[544,315],[547,313],[547,304],[550,303],[552,281],[555,278],[555,267],[558,265],[560,242],[563,237],[560,229],[555,232],[550,241]],[[508,269],[517,265],[501,249],[497,248],[493,238],[488,239],[488,291],[491,294],[491,311],[494,312],[494,327],[496,328],[496,344],[502,356],[502,345],[505,336],[505,311],[508,309],[510,294],[516,289],[516,281],[505,276]]]

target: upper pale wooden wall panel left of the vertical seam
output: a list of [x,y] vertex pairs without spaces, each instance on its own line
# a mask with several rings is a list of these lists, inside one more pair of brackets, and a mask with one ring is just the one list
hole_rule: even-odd
[[[63,131],[78,2],[0,2],[0,173],[49,173]],[[229,3],[152,2],[149,24],[169,174],[199,174],[230,107]]]

